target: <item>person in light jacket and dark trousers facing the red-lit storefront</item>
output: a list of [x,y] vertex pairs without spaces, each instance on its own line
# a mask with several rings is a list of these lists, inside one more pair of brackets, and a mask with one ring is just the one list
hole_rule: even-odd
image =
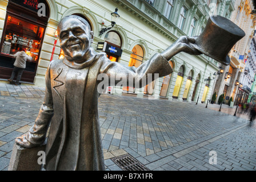
[[15,82],[15,85],[19,85],[19,81],[21,80],[22,73],[24,69],[26,68],[26,61],[27,60],[32,60],[33,57],[27,55],[26,49],[22,48],[22,51],[19,51],[15,53],[14,57],[16,57],[15,62],[14,62],[14,69],[13,72],[11,73],[11,77],[8,79],[8,81],[13,81],[13,78],[15,75],[17,75],[17,79]]

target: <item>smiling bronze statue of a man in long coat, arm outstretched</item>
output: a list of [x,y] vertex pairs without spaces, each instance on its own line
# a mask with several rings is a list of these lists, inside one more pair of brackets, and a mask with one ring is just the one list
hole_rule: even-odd
[[[65,58],[51,61],[46,72],[45,101],[34,126],[16,139],[22,147],[35,147],[46,139],[46,170],[104,170],[101,132],[98,119],[97,76],[109,79],[133,77],[134,86],[149,73],[159,77],[173,72],[169,60],[179,52],[199,55],[195,39],[181,36],[169,48],[156,53],[140,67],[110,61],[106,53],[91,47],[93,32],[85,19],[76,15],[63,18],[58,34]],[[111,83],[111,82],[110,82]],[[114,82],[114,85],[117,82]],[[113,86],[114,86],[113,85]],[[51,124],[50,124],[51,123]]]

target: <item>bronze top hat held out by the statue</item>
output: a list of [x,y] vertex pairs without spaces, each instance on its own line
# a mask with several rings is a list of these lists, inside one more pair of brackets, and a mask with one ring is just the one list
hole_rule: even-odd
[[203,54],[229,65],[228,53],[245,32],[235,23],[222,16],[210,16],[202,34],[195,39],[195,48]]

